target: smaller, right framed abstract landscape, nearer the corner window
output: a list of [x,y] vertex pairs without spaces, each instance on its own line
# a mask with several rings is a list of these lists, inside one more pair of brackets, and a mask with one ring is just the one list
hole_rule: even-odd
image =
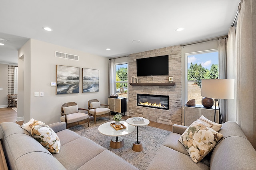
[[99,70],[83,68],[83,93],[99,91]]

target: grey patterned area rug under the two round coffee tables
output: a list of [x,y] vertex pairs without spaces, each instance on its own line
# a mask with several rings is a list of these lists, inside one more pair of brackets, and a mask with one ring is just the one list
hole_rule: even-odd
[[142,126],[139,127],[139,141],[143,146],[142,152],[135,152],[132,150],[132,145],[137,140],[136,129],[131,134],[122,136],[124,139],[124,147],[113,149],[109,146],[112,137],[102,135],[98,131],[98,127],[108,121],[113,120],[110,120],[107,117],[102,117],[96,121],[96,125],[94,125],[94,121],[90,121],[89,127],[87,127],[87,123],[84,123],[82,125],[70,127],[69,129],[76,132],[78,135],[87,137],[102,147],[111,150],[140,170],[146,169],[160,146],[164,143],[166,137],[172,133],[151,126]]

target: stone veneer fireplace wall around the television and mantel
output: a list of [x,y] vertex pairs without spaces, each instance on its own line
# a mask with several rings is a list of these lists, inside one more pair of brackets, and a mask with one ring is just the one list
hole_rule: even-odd
[[[169,82],[169,76],[174,77],[176,86],[129,86],[128,90],[128,112],[132,117],[145,117],[150,121],[167,125],[182,123],[182,85],[181,85],[181,47],[172,46],[155,49],[128,56],[129,83],[132,76],[137,76],[136,59],[169,55],[168,76],[139,76],[140,83]],[[155,94],[169,96],[169,110],[137,106],[138,94]]]

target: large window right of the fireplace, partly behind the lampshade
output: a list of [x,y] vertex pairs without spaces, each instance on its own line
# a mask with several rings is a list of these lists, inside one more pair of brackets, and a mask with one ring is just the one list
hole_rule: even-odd
[[200,104],[201,80],[218,78],[218,50],[201,51],[187,53],[186,59],[186,101],[196,99],[196,104]]

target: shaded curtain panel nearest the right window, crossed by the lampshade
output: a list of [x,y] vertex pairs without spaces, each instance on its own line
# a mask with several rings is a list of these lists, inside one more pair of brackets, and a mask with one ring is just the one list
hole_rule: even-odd
[[[218,40],[218,57],[219,57],[219,79],[227,78],[227,39]],[[226,122],[226,101],[219,99],[219,108],[222,115],[223,123]],[[221,120],[220,120],[221,122]]]

